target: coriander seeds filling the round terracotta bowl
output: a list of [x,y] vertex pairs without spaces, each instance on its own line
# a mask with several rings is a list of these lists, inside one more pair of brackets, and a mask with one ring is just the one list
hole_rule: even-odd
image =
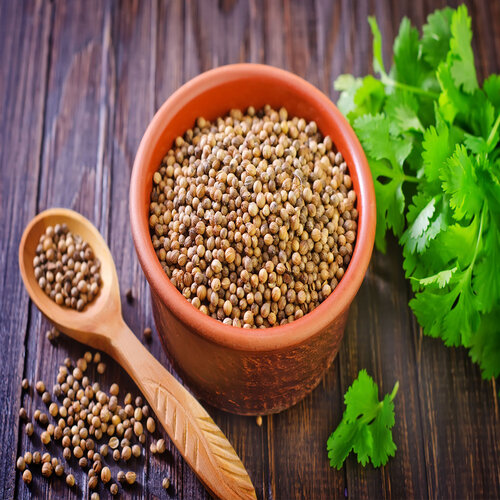
[[151,239],[197,309],[228,325],[292,322],[342,279],[357,233],[342,155],[270,106],[198,118],[153,175]]

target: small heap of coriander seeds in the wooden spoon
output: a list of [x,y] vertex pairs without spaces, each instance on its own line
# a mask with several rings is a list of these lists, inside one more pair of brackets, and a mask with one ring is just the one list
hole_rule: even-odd
[[40,237],[33,270],[40,288],[60,306],[83,311],[102,284],[101,263],[90,245],[66,224],[49,226]]

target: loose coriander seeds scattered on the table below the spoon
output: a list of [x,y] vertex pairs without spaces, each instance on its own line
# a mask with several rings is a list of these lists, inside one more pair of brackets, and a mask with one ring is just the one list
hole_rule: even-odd
[[[45,409],[35,409],[32,417],[24,408],[20,409],[19,417],[30,440],[36,433],[47,450],[53,450],[52,443],[62,447],[62,459],[43,449],[27,451],[18,457],[16,467],[26,484],[39,471],[47,479],[60,477],[74,487],[76,480],[71,466],[76,464],[87,471],[92,499],[99,498],[96,490],[100,484],[116,495],[120,490],[118,483],[125,488],[136,483],[136,472],[130,469],[134,460],[144,454],[146,434],[155,433],[156,422],[140,396],[134,399],[127,393],[120,402],[118,384],[104,391],[99,383],[92,383],[85,374],[92,363],[97,373],[105,372],[106,365],[99,352],[86,352],[76,363],[66,358],[58,368],[52,392],[42,380],[34,385]],[[27,379],[23,380],[22,388],[30,390]],[[154,453],[166,450],[163,439],[151,441],[150,446]],[[116,478],[109,467],[113,462],[126,469],[120,470]],[[170,479],[164,478],[163,485],[169,488]]]

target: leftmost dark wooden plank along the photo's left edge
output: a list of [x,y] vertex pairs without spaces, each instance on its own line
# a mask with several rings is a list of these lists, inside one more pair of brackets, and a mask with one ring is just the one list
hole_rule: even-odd
[[15,462],[29,301],[17,249],[35,214],[43,135],[51,5],[0,4],[0,487],[15,496]]

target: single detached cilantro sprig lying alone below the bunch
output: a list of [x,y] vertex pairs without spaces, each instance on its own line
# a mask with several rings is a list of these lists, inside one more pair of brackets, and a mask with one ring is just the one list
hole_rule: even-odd
[[398,387],[399,382],[396,382],[392,393],[379,401],[377,384],[366,370],[359,372],[344,396],[346,409],[342,421],[328,438],[331,467],[340,470],[351,451],[356,453],[359,463],[366,465],[371,460],[374,467],[385,465],[389,457],[394,456],[393,400]]

